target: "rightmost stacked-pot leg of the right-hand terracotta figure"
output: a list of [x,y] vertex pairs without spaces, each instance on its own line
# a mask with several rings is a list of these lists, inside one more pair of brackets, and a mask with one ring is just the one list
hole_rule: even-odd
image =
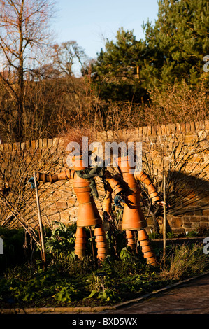
[[138,241],[144,258],[147,260],[147,264],[157,266],[157,260],[154,255],[154,251],[152,250],[147,232],[144,229],[138,231]]

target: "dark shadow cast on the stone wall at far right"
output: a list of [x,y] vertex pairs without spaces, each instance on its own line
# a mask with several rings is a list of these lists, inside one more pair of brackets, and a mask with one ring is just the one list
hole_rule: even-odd
[[[162,182],[160,182],[162,183]],[[209,181],[199,175],[189,175],[182,172],[170,171],[166,177],[166,202],[169,207],[167,218],[181,216],[198,218],[198,221],[209,223]],[[154,230],[159,232],[163,221],[162,207],[155,206],[152,210]],[[180,223],[182,223],[180,221]],[[209,226],[208,226],[209,227]],[[199,228],[201,228],[201,223]],[[166,221],[166,231],[172,232],[172,225]]]

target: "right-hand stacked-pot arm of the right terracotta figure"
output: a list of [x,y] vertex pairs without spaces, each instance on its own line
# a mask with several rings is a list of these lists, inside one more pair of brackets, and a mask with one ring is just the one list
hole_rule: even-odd
[[150,179],[150,176],[148,176],[145,172],[136,172],[134,174],[134,177],[137,181],[141,181],[142,183],[145,183],[145,185],[147,186],[150,199],[152,200],[152,203],[154,202],[157,202],[158,204],[164,203],[161,201],[161,197],[157,192],[157,188],[154,186],[152,180]]

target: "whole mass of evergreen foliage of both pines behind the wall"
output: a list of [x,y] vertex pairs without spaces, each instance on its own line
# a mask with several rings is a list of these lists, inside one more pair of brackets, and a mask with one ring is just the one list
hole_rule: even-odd
[[160,0],[158,18],[143,25],[145,40],[134,31],[117,31],[92,65],[103,99],[139,102],[154,87],[175,81],[208,83],[203,57],[209,53],[207,0]]

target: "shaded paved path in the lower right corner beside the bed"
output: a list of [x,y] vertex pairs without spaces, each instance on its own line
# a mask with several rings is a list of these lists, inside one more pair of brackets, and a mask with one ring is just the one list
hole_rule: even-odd
[[209,274],[142,302],[100,314],[209,314]]

